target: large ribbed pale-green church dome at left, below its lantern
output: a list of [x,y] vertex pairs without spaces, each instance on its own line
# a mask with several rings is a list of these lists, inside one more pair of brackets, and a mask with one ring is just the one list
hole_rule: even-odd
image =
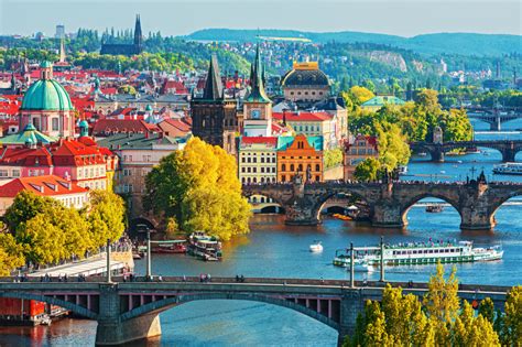
[[68,93],[54,79],[40,79],[25,93],[22,110],[70,111],[74,109]]

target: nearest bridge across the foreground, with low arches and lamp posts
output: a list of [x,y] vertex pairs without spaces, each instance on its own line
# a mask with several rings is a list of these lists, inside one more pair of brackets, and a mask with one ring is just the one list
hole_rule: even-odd
[[[55,279],[56,280],[56,279]],[[162,282],[104,282],[89,278],[88,282],[12,283],[0,279],[0,296],[36,300],[62,306],[86,318],[96,319],[97,345],[121,345],[131,340],[161,335],[159,313],[183,303],[197,300],[248,300],[294,310],[339,333],[339,345],[352,334],[356,318],[367,300],[381,300],[383,282],[369,282],[365,286],[341,280],[246,279],[238,283],[232,278],[213,278],[202,283],[198,278],[164,278]],[[37,281],[37,282],[34,282]],[[391,283],[404,288],[405,293],[422,296],[426,284]],[[406,289],[407,288],[407,289]],[[497,307],[503,307],[505,286],[460,285],[464,300],[491,297]]]

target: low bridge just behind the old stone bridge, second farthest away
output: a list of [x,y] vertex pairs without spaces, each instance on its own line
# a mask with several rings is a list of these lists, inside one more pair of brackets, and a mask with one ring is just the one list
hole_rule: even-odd
[[522,151],[522,140],[475,140],[456,141],[444,143],[412,142],[410,149],[414,152],[427,152],[432,155],[432,161],[444,162],[444,154],[455,149],[466,148],[488,148],[494,149],[502,154],[502,162],[514,162],[518,152]]

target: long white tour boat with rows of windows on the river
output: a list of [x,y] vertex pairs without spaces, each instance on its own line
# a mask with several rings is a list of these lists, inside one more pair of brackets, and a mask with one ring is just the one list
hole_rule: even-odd
[[[369,247],[363,253],[358,249],[357,264],[379,267],[381,250],[379,247]],[[496,247],[474,248],[472,241],[452,242],[410,242],[384,246],[384,264],[415,265],[433,263],[458,263],[474,261],[493,261],[502,259],[503,250]],[[336,264],[334,262],[334,264]],[[349,259],[348,259],[349,264]]]

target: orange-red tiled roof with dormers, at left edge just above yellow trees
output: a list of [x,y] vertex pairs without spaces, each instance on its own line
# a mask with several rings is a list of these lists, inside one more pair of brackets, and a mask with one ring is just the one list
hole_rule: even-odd
[[21,191],[26,189],[40,196],[59,196],[76,193],[87,193],[89,189],[65,181],[55,175],[14,178],[0,186],[1,197],[14,197]]

